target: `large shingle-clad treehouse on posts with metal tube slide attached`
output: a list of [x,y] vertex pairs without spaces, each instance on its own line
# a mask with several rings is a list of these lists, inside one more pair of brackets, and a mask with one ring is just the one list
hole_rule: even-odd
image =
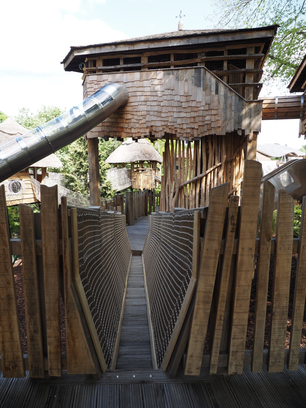
[[123,108],[87,133],[91,204],[100,203],[98,137],[165,140],[163,211],[206,206],[211,188],[224,182],[239,195],[244,159],[256,158],[257,97],[277,27],[180,24],[168,33],[71,47],[62,63],[66,71],[82,71],[84,97],[111,82],[129,92]]

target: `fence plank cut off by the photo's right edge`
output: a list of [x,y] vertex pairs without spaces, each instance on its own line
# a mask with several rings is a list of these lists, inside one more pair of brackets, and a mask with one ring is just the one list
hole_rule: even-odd
[[303,197],[301,227],[299,230],[299,249],[290,329],[288,370],[299,367],[299,349],[301,344],[303,317],[306,296],[306,197]]

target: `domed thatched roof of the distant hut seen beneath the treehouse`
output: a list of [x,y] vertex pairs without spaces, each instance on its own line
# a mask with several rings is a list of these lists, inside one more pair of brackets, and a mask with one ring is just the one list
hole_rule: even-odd
[[138,142],[135,142],[129,137],[105,161],[106,163],[133,163],[139,161],[162,163],[162,157],[148,140],[138,139]]

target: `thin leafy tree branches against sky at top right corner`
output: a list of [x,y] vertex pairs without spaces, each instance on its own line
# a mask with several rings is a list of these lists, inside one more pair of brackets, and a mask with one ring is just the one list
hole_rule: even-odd
[[279,24],[263,80],[288,84],[305,54],[306,0],[214,0],[214,3],[219,27]]

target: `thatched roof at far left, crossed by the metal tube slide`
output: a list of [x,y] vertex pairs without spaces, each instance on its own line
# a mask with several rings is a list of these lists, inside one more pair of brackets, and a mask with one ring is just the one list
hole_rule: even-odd
[[[16,137],[24,135],[27,133],[29,129],[24,128],[16,120],[13,116],[9,116],[6,120],[0,123],[0,146],[7,142],[10,142]],[[62,162],[55,154],[51,154],[45,157],[38,162],[35,162],[31,165],[32,167],[62,167]]]

